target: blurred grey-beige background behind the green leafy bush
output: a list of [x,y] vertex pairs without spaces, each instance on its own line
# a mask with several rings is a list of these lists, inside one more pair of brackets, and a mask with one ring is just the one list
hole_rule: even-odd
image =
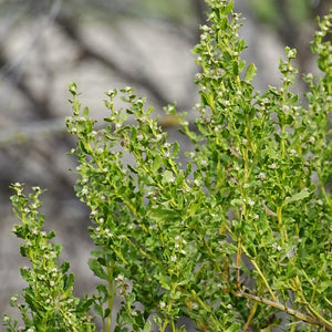
[[[278,58],[286,45],[298,49],[297,68],[311,72],[309,41],[315,17],[328,13],[331,0],[236,0],[246,18],[240,33],[255,62],[255,84],[279,85]],[[10,236],[17,222],[10,205],[11,183],[46,188],[45,228],[63,245],[61,259],[71,262],[75,292],[91,293],[87,268],[93,249],[86,228],[89,210],[74,195],[74,146],[65,131],[71,115],[68,83],[76,82],[80,101],[102,118],[104,92],[134,86],[156,112],[176,102],[193,114],[198,101],[193,46],[205,23],[204,0],[0,0],[0,314],[12,313],[8,301],[24,287],[19,267],[20,242]],[[300,92],[304,86],[298,82]],[[160,116],[170,139],[180,141]],[[185,143],[184,143],[185,144]],[[186,145],[185,148],[188,146]],[[15,314],[15,313],[13,313]],[[0,326],[1,329],[4,328]]]

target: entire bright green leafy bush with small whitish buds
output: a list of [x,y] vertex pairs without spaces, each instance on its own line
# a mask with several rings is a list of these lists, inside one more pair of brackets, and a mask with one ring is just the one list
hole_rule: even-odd
[[[70,84],[75,189],[91,209],[96,249],[89,266],[101,283],[90,299],[72,295],[54,234],[41,230],[41,190],[28,198],[14,185],[22,224],[13,232],[31,260],[21,269],[23,302],[11,301],[22,331],[94,331],[89,310],[103,331],[186,331],[183,317],[199,331],[271,331],[281,323],[287,331],[332,331],[332,10],[312,42],[321,75],[304,76],[309,92],[299,103],[291,92],[297,51],[287,48],[280,60],[281,86],[257,92],[256,66],[240,58],[246,44],[234,1],[207,3],[209,24],[194,49],[201,66],[194,128],[174,105],[165,108],[195,146],[187,165],[133,89],[120,91],[120,110],[118,91],[106,93],[108,113],[96,129]],[[113,322],[115,297],[122,305]],[[7,315],[4,324],[21,331]]]

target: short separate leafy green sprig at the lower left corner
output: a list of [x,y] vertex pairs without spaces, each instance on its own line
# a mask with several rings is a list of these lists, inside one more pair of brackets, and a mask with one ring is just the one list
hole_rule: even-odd
[[[54,232],[42,230],[44,216],[38,212],[41,207],[39,196],[42,190],[33,187],[27,197],[22,185],[14,184],[15,195],[12,205],[21,225],[15,225],[13,234],[24,240],[22,257],[27,257],[31,267],[21,268],[21,276],[28,282],[22,295],[13,295],[10,304],[17,307],[25,325],[23,331],[95,331],[90,323],[86,310],[91,299],[77,299],[72,294],[74,276],[66,274],[69,263],[58,264],[61,246],[50,242]],[[22,331],[18,321],[8,315],[3,319],[7,331]]]

